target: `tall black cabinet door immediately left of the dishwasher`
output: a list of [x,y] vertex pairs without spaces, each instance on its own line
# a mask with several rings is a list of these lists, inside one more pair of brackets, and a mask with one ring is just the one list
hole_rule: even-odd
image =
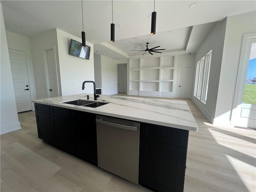
[[82,111],[73,112],[75,154],[97,166],[96,115]]

